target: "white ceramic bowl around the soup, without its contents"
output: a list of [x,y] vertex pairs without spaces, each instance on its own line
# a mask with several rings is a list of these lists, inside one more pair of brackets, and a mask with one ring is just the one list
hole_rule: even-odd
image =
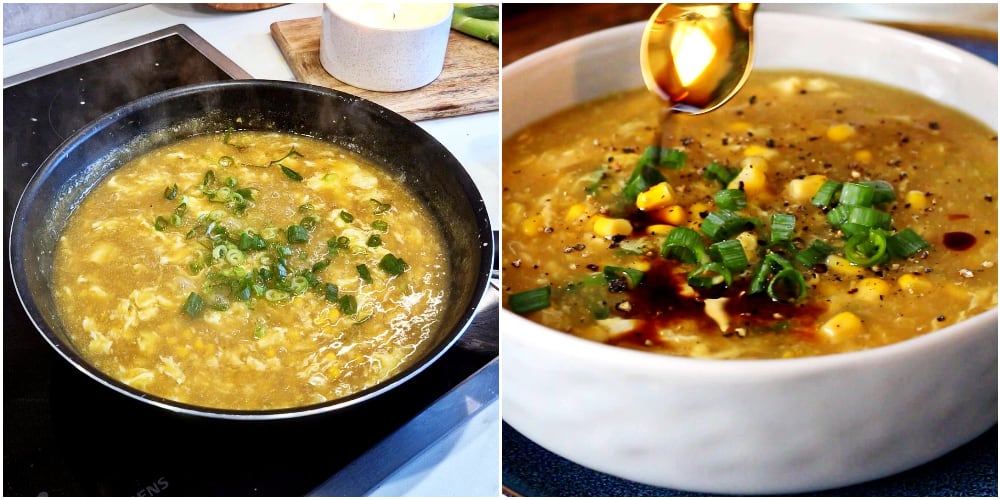
[[[637,23],[503,71],[503,133],[642,86]],[[759,13],[757,68],[910,89],[997,127],[997,67],[876,25]],[[941,456],[997,421],[997,310],[898,344],[823,357],[662,356],[501,311],[503,418],[592,469],[655,486],[780,494],[846,486]]]

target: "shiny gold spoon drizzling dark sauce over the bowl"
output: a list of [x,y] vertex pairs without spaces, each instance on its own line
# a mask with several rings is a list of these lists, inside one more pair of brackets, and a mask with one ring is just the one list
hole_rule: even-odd
[[676,111],[701,114],[731,99],[750,76],[755,3],[672,4],[646,24],[646,87]]

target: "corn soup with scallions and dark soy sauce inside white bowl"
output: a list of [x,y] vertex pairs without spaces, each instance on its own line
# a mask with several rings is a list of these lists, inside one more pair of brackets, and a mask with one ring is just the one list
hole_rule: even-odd
[[505,141],[506,307],[713,358],[867,349],[995,307],[995,131],[803,72],[756,71],[713,113],[660,113],[635,90]]

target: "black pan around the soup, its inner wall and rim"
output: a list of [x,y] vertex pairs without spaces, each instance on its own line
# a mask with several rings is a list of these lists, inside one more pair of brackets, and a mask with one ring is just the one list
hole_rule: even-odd
[[[382,383],[348,397],[297,408],[236,411],[178,403],[101,373],[81,357],[57,314],[50,278],[53,251],[69,216],[109,172],[153,148],[230,126],[308,135],[383,166],[429,208],[452,262],[452,303],[433,347]],[[264,420],[335,411],[403,384],[439,358],[472,321],[489,285],[493,236],[482,197],[468,173],[438,141],[409,120],[370,101],[298,83],[242,80],[193,85],[143,97],[83,127],[35,173],[14,212],[10,264],[25,311],[45,340],[101,384],[184,414]]]

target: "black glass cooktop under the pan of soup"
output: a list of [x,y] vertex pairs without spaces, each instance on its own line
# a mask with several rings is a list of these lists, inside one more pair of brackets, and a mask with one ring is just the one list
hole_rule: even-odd
[[[115,107],[250,75],[175,26],[4,81],[4,258],[17,200],[65,138]],[[305,495],[497,356],[480,314],[437,362],[349,411],[247,422],[177,415],[59,357],[4,273],[4,495]]]

